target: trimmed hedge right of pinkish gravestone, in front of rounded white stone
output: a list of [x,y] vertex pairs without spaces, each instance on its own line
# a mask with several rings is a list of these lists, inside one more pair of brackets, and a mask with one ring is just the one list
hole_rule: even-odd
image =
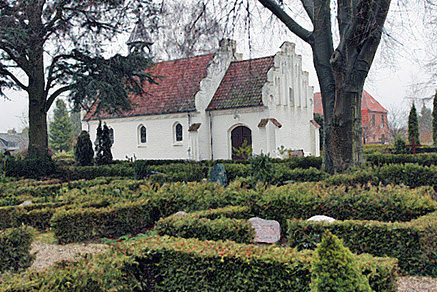
[[286,236],[292,247],[314,249],[326,230],[354,253],[397,258],[404,272],[437,276],[437,212],[408,223],[293,219],[287,221]]

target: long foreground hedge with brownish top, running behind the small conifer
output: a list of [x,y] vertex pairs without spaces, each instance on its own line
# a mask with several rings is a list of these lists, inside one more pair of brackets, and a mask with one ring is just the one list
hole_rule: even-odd
[[[309,291],[311,252],[153,236],[117,245],[153,271],[156,291]],[[359,268],[376,291],[396,291],[396,259],[360,256]],[[152,290],[153,291],[153,290]]]

